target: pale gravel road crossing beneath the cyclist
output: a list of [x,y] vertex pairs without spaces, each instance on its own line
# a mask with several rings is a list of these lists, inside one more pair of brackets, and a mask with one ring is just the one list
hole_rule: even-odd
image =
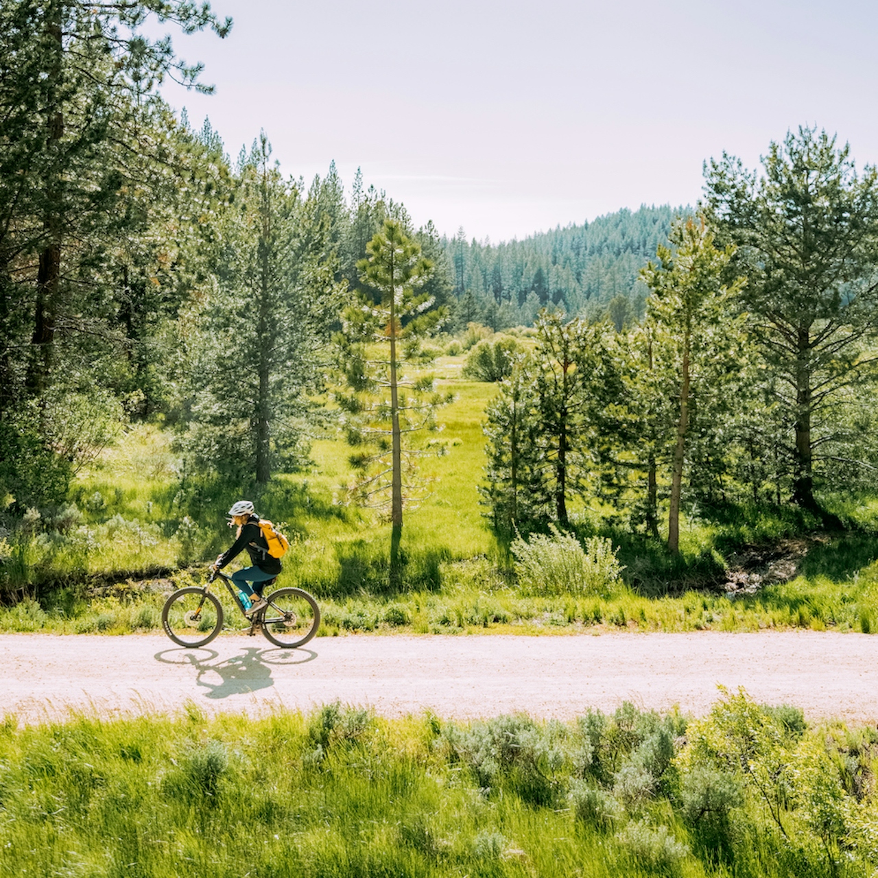
[[692,714],[716,685],[805,715],[878,721],[878,637],[824,632],[604,634],[600,637],[319,637],[302,650],[221,635],[184,650],[163,635],[0,636],[0,714],[26,722],[69,708],[102,714],[309,709],[340,699],[386,716],[527,711],[569,718],[587,707],[674,704]]

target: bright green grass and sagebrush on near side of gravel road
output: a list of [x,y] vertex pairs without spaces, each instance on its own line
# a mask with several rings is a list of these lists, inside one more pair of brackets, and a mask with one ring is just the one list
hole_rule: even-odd
[[[209,719],[190,705],[179,716],[78,715],[21,729],[7,716],[0,875],[868,874],[876,852],[860,827],[878,817],[863,792],[874,731],[836,725],[802,738],[795,710],[736,698],[687,734],[697,728],[701,741],[719,728],[733,749],[725,717],[745,714],[757,769],[768,758],[761,739],[774,741],[771,759],[797,772],[784,781],[787,838],[747,775],[716,774],[722,752],[680,751],[685,717],[631,705],[567,724],[386,720],[339,705],[262,719]],[[814,769],[845,813],[825,839],[802,806]],[[724,778],[708,817],[697,816],[705,794],[690,782],[699,771]]]

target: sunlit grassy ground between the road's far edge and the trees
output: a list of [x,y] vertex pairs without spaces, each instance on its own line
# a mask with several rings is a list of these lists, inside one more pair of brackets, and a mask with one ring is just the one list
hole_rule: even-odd
[[[313,469],[279,476],[260,498],[261,513],[284,522],[293,538],[281,584],[319,596],[322,634],[878,626],[876,500],[837,503],[857,529],[818,538],[803,536],[809,522],[790,509],[738,508],[723,520],[689,519],[678,560],[608,528],[594,510],[579,510],[581,534],[601,531],[619,545],[627,585],[610,598],[522,595],[476,491],[485,463],[481,421],[495,387],[455,378],[461,363],[462,357],[440,363],[457,399],[441,417],[447,453],[422,466],[435,478],[431,493],[407,512],[402,592],[387,588],[389,528],[338,503],[349,479],[342,440],[315,443]],[[163,594],[200,581],[205,559],[225,548],[223,514],[236,498],[222,485],[181,482],[177,466],[162,430],[135,428],[76,481],[70,507],[33,516],[32,536],[0,541],[7,588],[38,599],[0,609],[0,630],[154,629]],[[705,588],[722,581],[742,546],[779,544],[801,556],[789,581],[736,597]]]

